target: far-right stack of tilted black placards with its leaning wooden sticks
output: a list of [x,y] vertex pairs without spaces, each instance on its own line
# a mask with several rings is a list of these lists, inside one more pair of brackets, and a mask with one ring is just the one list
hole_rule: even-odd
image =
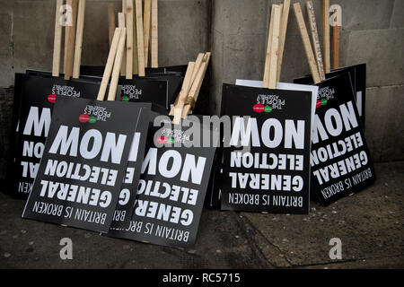
[[[365,90],[363,74],[365,66],[358,65],[337,70],[329,73],[329,79],[326,80],[311,1],[307,2],[307,12],[312,26],[315,58],[304,24],[302,9],[300,4],[294,4],[294,13],[301,31],[312,78],[320,88],[316,105],[315,129],[312,133],[312,193],[321,204],[327,205],[343,196],[350,196],[364,189],[375,180],[373,162],[357,108],[359,106],[359,110],[362,111],[364,121],[364,101],[359,90]],[[351,73],[347,73],[349,71]],[[356,77],[356,71],[358,71],[358,77]],[[352,76],[355,78],[352,79]],[[359,84],[360,81],[361,84]],[[353,87],[357,87],[355,88],[356,97]]]

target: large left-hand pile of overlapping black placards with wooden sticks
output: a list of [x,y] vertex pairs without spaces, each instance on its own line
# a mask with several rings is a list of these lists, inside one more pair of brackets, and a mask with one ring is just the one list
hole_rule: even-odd
[[[195,107],[210,53],[202,54],[194,90],[185,94],[180,122],[173,125],[170,117],[152,113],[150,103],[136,99],[136,88],[122,87],[133,99],[117,93],[126,39],[127,28],[116,28],[99,80],[82,77],[67,87],[66,80],[39,71],[17,75],[17,92],[27,99],[16,101],[23,107],[15,116],[14,127],[20,131],[16,151],[27,158],[37,156],[35,161],[18,159],[27,162],[21,164],[22,174],[31,176],[22,217],[111,237],[192,247],[215,154],[215,145],[202,146],[198,135],[210,138],[217,132],[203,125],[201,117],[185,117]],[[91,80],[84,82],[87,78]],[[167,82],[136,83],[142,81],[148,81],[143,90],[167,94]],[[89,99],[80,99],[83,94]],[[103,101],[107,94],[108,101]],[[31,139],[33,135],[39,138]]]

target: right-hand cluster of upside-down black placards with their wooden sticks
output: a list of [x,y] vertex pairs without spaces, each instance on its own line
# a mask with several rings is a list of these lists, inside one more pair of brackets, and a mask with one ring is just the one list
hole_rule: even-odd
[[[233,128],[228,140],[224,138],[228,146],[224,145],[221,175],[216,177],[220,183],[215,184],[211,193],[213,206],[220,198],[222,209],[308,213],[309,190],[321,204],[330,204],[367,187],[374,180],[350,77],[345,73],[350,70],[351,74],[357,74],[355,83],[360,101],[364,99],[365,89],[364,75],[360,73],[365,66],[336,70],[329,74],[329,80],[325,80],[324,73],[319,73],[321,51],[310,1],[307,11],[311,16],[316,57],[300,4],[294,4],[294,12],[318,85],[277,83],[289,5],[290,1],[285,1],[272,6],[264,81],[236,81],[237,85],[246,87],[224,84],[222,116],[233,117]],[[282,11],[281,16],[279,11]],[[262,89],[273,87],[274,83],[277,90]],[[364,100],[357,104],[364,110]],[[303,126],[299,126],[303,123],[311,126],[312,133],[303,133]],[[311,144],[305,143],[306,140]]]

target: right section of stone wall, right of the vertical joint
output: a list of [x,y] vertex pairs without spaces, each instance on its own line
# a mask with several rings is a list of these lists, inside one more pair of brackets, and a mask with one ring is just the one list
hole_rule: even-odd
[[[222,83],[262,80],[269,7],[280,0],[216,0],[212,8],[213,109]],[[305,1],[299,2],[305,13]],[[322,48],[322,1],[313,0]],[[334,0],[342,8],[340,65],[367,64],[366,139],[373,161],[404,160],[404,0]],[[306,26],[308,22],[306,21]],[[323,49],[322,49],[323,50]],[[293,9],[281,81],[310,74]]]

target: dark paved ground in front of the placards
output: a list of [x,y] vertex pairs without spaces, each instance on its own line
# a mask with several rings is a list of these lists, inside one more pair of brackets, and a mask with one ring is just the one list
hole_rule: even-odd
[[[404,268],[404,162],[376,164],[376,184],[310,215],[206,210],[195,249],[164,248],[22,220],[0,194],[0,268]],[[59,240],[73,240],[61,260]],[[329,259],[329,239],[342,259]]]

